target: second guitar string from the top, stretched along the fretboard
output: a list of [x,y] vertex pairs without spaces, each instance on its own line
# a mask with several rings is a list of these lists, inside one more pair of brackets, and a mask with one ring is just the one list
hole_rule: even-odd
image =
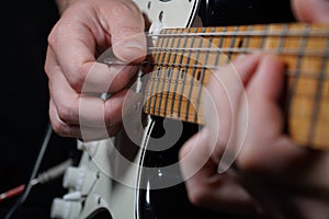
[[[241,48],[195,48],[195,47],[179,47],[179,48],[161,48],[161,47],[149,47],[149,49],[155,49],[159,51],[197,51],[197,53],[259,53],[262,51],[264,54],[276,54],[276,55],[295,55],[298,56],[300,54],[300,49],[290,49],[284,50],[282,53],[277,53],[275,49],[260,49],[260,48],[249,48],[249,49],[241,49]],[[315,56],[315,57],[326,57],[329,56],[329,53],[326,51],[325,54],[319,54],[317,50],[308,50],[305,53],[306,56]]]

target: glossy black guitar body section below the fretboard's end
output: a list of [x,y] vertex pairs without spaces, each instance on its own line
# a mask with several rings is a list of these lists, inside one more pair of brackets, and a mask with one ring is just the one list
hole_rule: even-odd
[[[162,123],[163,119],[155,117],[156,125],[151,132],[152,137],[160,137],[163,134]],[[166,119],[164,123],[171,123],[171,127],[178,127],[179,122],[173,119]],[[178,162],[178,152],[181,146],[195,134],[201,127],[195,124],[183,123],[183,132],[177,143],[171,148],[163,151],[146,151],[144,165],[147,168],[155,168],[161,170],[168,165]],[[152,142],[149,143],[152,147]],[[242,216],[232,216],[224,212],[215,212],[193,206],[186,196],[186,189],[184,183],[177,184],[171,187],[161,189],[154,189],[159,183],[166,184],[172,178],[182,178],[179,165],[177,171],[161,172],[162,174],[156,174],[157,172],[148,172],[146,169],[141,169],[141,181],[143,187],[149,187],[149,189],[139,191],[139,218],[140,219],[247,219]],[[154,187],[155,186],[155,187]]]

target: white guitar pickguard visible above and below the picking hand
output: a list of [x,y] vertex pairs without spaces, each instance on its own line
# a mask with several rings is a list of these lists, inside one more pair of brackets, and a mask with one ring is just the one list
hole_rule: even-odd
[[[198,0],[134,0],[143,13],[151,23],[166,27],[189,27],[196,15]],[[116,138],[95,141],[87,145],[88,150],[83,151],[78,169],[87,170],[84,176],[79,176],[82,183],[81,198],[63,199],[57,198],[61,206],[53,208],[63,209],[57,218],[84,219],[91,217],[98,209],[107,209],[113,219],[138,219],[136,218],[136,185],[137,165],[123,168],[120,154],[113,146],[117,143]],[[138,164],[141,158],[140,150],[135,157],[134,163]],[[124,183],[113,181],[112,176],[118,176]],[[69,193],[77,192],[69,188]],[[58,201],[59,200],[59,201]],[[60,216],[60,214],[64,214]]]

